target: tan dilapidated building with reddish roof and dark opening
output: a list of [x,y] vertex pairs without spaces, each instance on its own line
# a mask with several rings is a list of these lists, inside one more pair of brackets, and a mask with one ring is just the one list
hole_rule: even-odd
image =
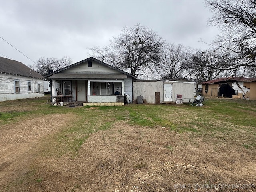
[[202,96],[224,96],[256,100],[256,78],[228,77],[202,82]]

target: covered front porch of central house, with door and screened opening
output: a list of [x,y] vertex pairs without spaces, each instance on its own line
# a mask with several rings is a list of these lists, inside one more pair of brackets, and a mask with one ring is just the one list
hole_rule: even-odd
[[52,79],[51,87],[52,102],[124,103],[124,80]]

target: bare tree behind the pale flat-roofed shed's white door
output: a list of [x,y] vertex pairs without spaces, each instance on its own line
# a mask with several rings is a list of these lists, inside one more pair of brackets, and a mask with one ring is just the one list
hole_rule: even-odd
[[156,64],[156,72],[162,80],[169,80],[190,75],[189,60],[191,48],[182,44],[166,44],[161,53],[161,60]]

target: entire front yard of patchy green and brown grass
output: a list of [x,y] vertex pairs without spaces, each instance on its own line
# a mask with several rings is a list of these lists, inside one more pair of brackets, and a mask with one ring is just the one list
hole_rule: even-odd
[[0,103],[0,191],[255,192],[256,101]]

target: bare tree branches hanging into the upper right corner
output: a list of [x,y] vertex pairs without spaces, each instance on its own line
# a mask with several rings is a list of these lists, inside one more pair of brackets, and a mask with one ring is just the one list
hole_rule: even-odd
[[206,0],[205,4],[213,12],[209,24],[222,30],[212,45],[229,50],[230,61],[236,60],[228,67],[256,68],[256,1]]

